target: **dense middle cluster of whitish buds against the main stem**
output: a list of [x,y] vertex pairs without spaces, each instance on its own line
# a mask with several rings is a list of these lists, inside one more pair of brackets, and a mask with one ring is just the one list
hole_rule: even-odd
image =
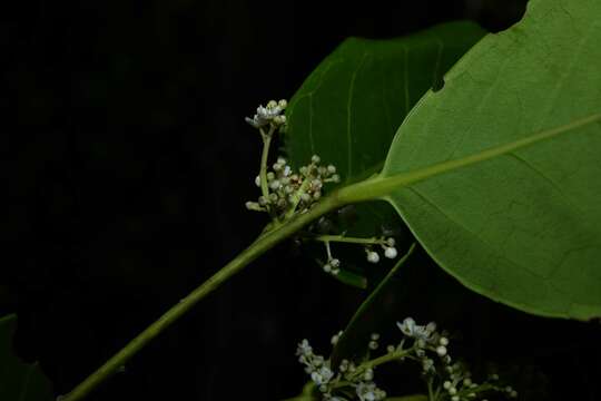
[[[247,202],[250,211],[273,212],[276,216],[285,217],[295,212],[306,212],[322,197],[324,184],[338,183],[339,176],[333,165],[321,165],[321,158],[314,155],[311,163],[293,172],[287,160],[279,157],[267,172],[268,194],[262,195],[257,202]],[[260,176],[255,178],[260,187]]]

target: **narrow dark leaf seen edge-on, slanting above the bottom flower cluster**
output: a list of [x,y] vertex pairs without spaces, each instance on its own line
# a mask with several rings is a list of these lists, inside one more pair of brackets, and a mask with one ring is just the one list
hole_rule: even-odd
[[362,354],[362,350],[366,350],[370,341],[370,334],[377,325],[377,320],[381,317],[378,310],[385,303],[390,291],[396,291],[397,286],[393,283],[393,277],[398,268],[405,264],[415,248],[412,244],[407,253],[396,262],[393,268],[380,282],[377,287],[367,296],[367,299],[357,309],[351,322],[346,325],[338,342],[332,351],[332,365],[338,366],[343,359],[357,361]]

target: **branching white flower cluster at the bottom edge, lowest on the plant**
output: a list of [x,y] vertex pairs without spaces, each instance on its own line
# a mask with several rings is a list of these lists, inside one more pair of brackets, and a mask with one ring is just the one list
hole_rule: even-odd
[[[499,376],[491,374],[483,382],[472,379],[465,364],[453,362],[449,354],[449,338],[445,332],[437,332],[435,323],[417,325],[411,317],[397,326],[403,334],[398,344],[391,344],[386,353],[370,358],[378,350],[380,335],[374,333],[367,343],[367,359],[358,364],[343,360],[338,366],[332,366],[331,360],[315,354],[307,340],[303,340],[296,350],[298,361],[305,365],[323,400],[329,401],[377,401],[386,398],[386,392],[374,381],[376,366],[392,361],[415,361],[422,366],[422,376],[427,384],[430,401],[486,401],[492,394],[516,398],[518,392],[499,383]],[[332,338],[335,345],[342,332]]]

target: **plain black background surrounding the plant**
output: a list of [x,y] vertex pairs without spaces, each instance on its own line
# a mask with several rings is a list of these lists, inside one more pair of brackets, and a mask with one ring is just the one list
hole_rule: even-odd
[[[249,244],[265,216],[244,207],[256,197],[260,151],[244,117],[289,98],[344,38],[396,37],[461,18],[497,31],[520,19],[524,3],[28,1],[4,9],[0,312],[19,314],[19,354],[40,361],[57,394],[68,392]],[[462,332],[457,351],[476,366],[496,362],[523,399],[601,399],[599,324],[521,314],[462,290],[424,255],[415,265],[423,287],[394,320],[414,314]],[[292,397],[305,380],[296,343],[308,338],[327,353],[363,297],[280,245],[90,400]]]

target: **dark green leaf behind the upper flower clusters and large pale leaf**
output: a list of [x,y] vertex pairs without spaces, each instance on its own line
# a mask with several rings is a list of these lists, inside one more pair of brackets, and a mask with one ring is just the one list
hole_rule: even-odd
[[[343,184],[382,169],[394,134],[424,92],[484,31],[467,21],[392,40],[349,38],[309,75],[290,99],[285,151],[294,167],[312,155],[334,164]],[[357,205],[349,235],[401,224],[386,203]]]

